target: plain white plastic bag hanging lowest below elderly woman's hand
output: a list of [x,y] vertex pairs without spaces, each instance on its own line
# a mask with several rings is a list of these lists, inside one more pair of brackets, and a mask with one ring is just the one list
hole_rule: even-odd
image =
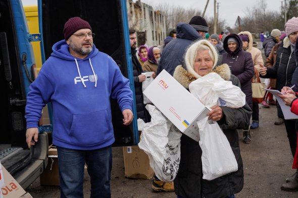
[[[210,122],[210,123],[209,123]],[[203,179],[213,180],[238,170],[238,164],[227,137],[208,117],[197,122],[202,149]]]

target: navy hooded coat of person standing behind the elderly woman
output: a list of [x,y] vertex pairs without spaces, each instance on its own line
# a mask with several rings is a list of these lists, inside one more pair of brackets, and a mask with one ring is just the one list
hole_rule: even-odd
[[166,70],[173,76],[177,65],[182,64],[184,53],[187,47],[202,36],[189,24],[178,23],[177,38],[169,42],[163,49],[161,60],[158,64],[157,75]]

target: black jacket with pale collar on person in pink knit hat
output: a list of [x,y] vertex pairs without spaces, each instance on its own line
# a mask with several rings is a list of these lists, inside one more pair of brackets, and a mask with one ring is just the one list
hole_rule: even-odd
[[[267,74],[265,76],[260,75],[260,77],[276,79],[276,90],[280,91],[284,86],[292,86],[292,76],[296,68],[295,53],[291,51],[289,38],[285,37],[277,49],[274,66],[267,68]],[[277,115],[283,118],[279,104],[277,104]]]

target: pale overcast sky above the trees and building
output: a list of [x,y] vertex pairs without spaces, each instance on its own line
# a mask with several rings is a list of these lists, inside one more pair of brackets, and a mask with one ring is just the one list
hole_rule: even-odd
[[[135,2],[136,0],[133,0]],[[265,0],[268,11],[280,11],[281,0]],[[37,0],[22,0],[23,5],[37,4]],[[141,0],[145,4],[153,7],[166,2],[173,6],[182,6],[184,8],[197,8],[202,13],[207,0]],[[217,0],[219,3],[219,18],[225,19],[230,27],[234,27],[237,16],[244,17],[247,8],[253,8],[260,3],[260,0]],[[284,1],[283,1],[284,2]],[[214,16],[214,0],[209,1],[206,14],[208,17]]]

